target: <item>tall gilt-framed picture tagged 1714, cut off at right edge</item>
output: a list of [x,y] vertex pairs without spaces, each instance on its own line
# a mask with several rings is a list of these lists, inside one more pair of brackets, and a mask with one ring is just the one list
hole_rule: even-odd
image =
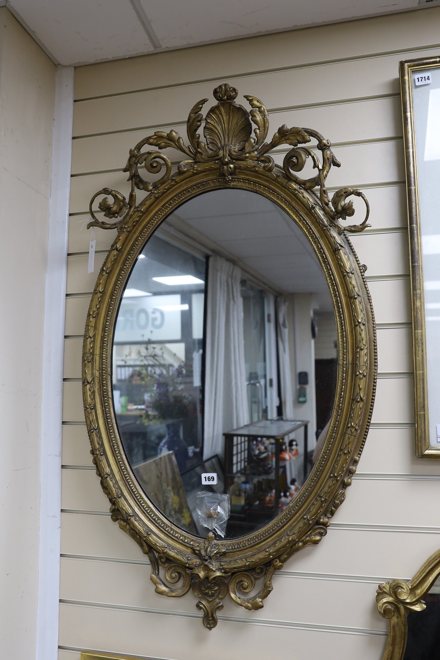
[[400,62],[410,242],[416,454],[440,458],[440,57]]

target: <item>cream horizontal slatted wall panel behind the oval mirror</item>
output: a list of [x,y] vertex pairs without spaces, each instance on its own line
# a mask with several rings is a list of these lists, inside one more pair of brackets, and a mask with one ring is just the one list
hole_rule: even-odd
[[[379,659],[387,625],[379,581],[410,578],[440,545],[440,462],[414,457],[408,232],[398,61],[437,55],[440,9],[323,26],[81,67],[76,72],[67,266],[60,660],[80,649],[142,658],[212,660],[343,656]],[[270,110],[271,130],[307,125],[329,137],[342,167],[332,189],[358,185],[371,228],[352,237],[377,320],[379,380],[358,474],[326,539],[299,552],[259,612],[226,601],[208,633],[192,596],[154,593],[148,560],[111,522],[91,464],[82,411],[82,331],[96,272],[80,229],[101,187],[127,191],[127,152],[175,127],[228,81]],[[208,104],[207,104],[208,106]],[[209,106],[208,106],[209,107]],[[172,156],[175,158],[175,154]],[[278,155],[282,158],[283,153]],[[96,265],[115,232],[97,230]]]

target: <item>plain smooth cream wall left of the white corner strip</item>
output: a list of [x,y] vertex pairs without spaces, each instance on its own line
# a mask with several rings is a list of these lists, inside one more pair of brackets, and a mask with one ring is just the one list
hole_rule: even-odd
[[55,65],[0,9],[0,648],[36,653],[42,348]]

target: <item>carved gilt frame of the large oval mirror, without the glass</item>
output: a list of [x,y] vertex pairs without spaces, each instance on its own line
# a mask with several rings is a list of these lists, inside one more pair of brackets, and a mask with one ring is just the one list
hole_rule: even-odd
[[[96,472],[111,506],[111,518],[141,546],[150,559],[156,593],[179,597],[189,591],[198,598],[203,624],[216,626],[216,612],[229,593],[245,609],[260,609],[272,591],[272,576],[300,548],[321,541],[329,519],[345,498],[367,436],[375,384],[377,356],[371,298],[361,266],[346,232],[367,225],[368,205],[356,189],[342,188],[330,202],[325,179],[331,166],[340,166],[329,141],[312,129],[280,127],[265,143],[268,115],[253,96],[245,96],[250,112],[236,104],[237,90],[222,84],[214,90],[217,104],[203,118],[197,103],[189,114],[189,146],[175,131],[157,131],[130,150],[125,172],[131,192],[103,189],[92,197],[89,226],[117,228],[117,237],[96,281],[88,310],[83,345],[84,411]],[[197,135],[204,121],[206,143]],[[255,138],[251,137],[252,123]],[[303,147],[314,139],[314,149]],[[144,145],[177,149],[185,154],[177,171],[166,153],[143,152]],[[280,145],[290,150],[283,165],[268,155]],[[322,162],[317,156],[321,152]],[[275,155],[275,154],[274,154]],[[316,174],[301,179],[309,158]],[[158,173],[160,180],[142,179],[139,166]],[[279,205],[303,230],[323,267],[334,305],[338,331],[338,379],[329,434],[309,479],[291,504],[265,527],[238,539],[217,541],[195,537],[173,525],[144,495],[127,463],[117,432],[111,397],[111,346],[119,301],[131,269],[148,238],[174,209],[205,191],[225,187],[254,191]],[[136,189],[148,193],[136,201]],[[317,189],[315,191],[314,189]],[[98,219],[99,208],[113,222]],[[350,195],[361,197],[367,215],[360,225],[342,226],[352,216]],[[160,569],[162,568],[162,575]],[[255,595],[256,581],[261,589]],[[177,585],[177,586],[173,586]]]

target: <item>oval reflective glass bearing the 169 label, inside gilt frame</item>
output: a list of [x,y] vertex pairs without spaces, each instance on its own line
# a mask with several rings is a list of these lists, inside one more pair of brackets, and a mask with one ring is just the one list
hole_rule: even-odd
[[309,241],[257,193],[210,191],[158,227],[113,336],[133,473],[175,525],[247,535],[298,494],[336,390],[336,322]]

